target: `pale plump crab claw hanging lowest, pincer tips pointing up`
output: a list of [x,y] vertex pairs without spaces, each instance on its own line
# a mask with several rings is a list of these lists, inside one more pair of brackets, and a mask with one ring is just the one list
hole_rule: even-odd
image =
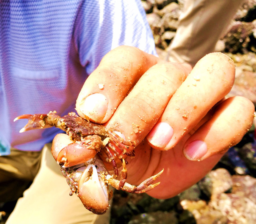
[[109,208],[109,190],[102,177],[98,175],[100,169],[101,166],[96,168],[90,164],[78,182],[78,197],[85,208],[95,214],[104,214]]

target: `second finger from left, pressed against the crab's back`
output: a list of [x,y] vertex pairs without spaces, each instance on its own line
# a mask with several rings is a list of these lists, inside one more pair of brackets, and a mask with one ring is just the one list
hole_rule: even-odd
[[185,80],[186,67],[162,63],[152,66],[121,102],[107,127],[119,130],[137,145],[157,122],[171,96]]

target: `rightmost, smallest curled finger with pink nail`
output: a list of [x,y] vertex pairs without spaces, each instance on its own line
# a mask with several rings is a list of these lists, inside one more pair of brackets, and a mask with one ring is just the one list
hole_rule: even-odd
[[183,153],[189,160],[204,160],[236,145],[252,126],[254,104],[244,97],[228,98],[216,108],[208,122],[186,142]]

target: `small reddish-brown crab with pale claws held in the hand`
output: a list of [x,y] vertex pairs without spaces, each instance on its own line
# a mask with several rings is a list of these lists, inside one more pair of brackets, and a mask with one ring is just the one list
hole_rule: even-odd
[[[123,140],[101,124],[89,122],[89,119],[81,118],[74,112],[60,117],[55,111],[48,114],[24,114],[14,121],[25,118],[28,124],[20,132],[55,126],[68,134],[56,135],[52,142],[52,155],[69,184],[70,195],[77,194],[85,208],[95,214],[104,214],[109,208],[108,201],[113,195],[109,185],[117,190],[143,193],[160,184],[154,182],[163,170],[138,186],[126,182],[125,158],[135,156],[135,144]],[[63,140],[66,143],[62,148]]]

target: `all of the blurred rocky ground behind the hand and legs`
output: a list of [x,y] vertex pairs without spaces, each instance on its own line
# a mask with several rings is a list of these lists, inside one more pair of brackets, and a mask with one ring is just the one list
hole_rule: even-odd
[[[142,0],[157,53],[163,59],[167,59],[184,1]],[[216,51],[236,64],[236,81],[229,95],[246,96],[256,105],[256,0],[246,0],[238,10]],[[158,200],[115,191],[111,224],[256,223],[254,131],[255,126],[205,178],[173,198]]]

